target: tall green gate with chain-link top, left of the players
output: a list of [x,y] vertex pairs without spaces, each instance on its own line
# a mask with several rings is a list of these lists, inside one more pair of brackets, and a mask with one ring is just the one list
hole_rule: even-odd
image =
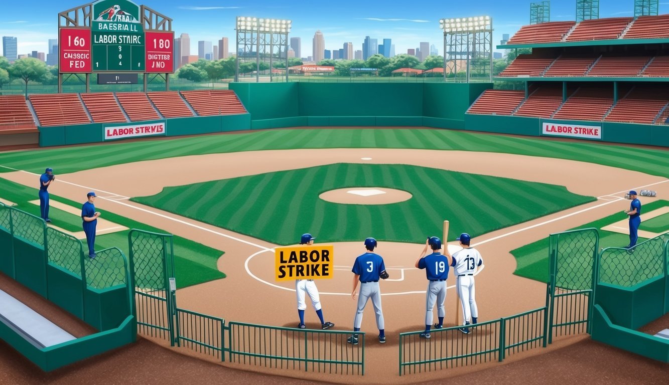
[[172,238],[136,229],[128,234],[137,331],[174,346],[178,319]]

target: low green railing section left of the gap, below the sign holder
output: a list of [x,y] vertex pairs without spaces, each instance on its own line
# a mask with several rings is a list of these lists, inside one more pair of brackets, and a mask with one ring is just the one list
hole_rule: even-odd
[[365,333],[355,332],[357,345],[347,343],[352,332],[280,328],[230,322],[230,362],[312,370],[331,374],[365,374]]

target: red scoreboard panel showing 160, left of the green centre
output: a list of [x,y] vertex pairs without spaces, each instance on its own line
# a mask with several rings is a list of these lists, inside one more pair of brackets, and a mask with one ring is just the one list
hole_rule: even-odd
[[58,41],[59,72],[62,74],[92,72],[90,47],[90,29],[60,28],[60,39]]

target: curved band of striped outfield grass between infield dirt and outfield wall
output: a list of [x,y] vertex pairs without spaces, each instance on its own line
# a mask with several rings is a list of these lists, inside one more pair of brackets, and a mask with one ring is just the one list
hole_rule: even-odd
[[[282,129],[242,134],[223,134],[141,140],[90,146],[40,148],[0,154],[0,166],[41,174],[47,166],[56,174],[87,170],[114,164],[251,150],[289,150],[294,148],[410,148],[502,152],[549,158],[580,160],[646,174],[669,177],[666,150],[616,146],[599,142],[562,142],[546,138],[518,138],[437,129],[318,128]],[[86,159],[86,162],[82,162]],[[0,167],[0,172],[11,171]]]

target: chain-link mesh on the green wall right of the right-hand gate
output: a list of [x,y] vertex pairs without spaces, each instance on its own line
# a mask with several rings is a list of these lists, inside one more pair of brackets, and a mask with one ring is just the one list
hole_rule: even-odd
[[669,234],[639,243],[631,249],[607,247],[599,257],[599,282],[632,287],[664,275],[664,243]]

